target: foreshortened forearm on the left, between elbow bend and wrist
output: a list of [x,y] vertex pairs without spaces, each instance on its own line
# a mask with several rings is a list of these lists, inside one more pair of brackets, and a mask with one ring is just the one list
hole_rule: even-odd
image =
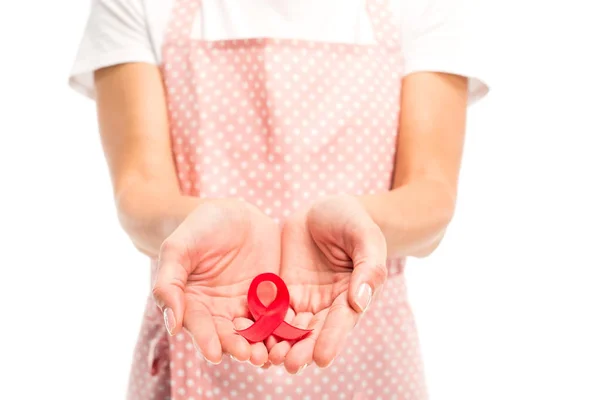
[[116,195],[119,221],[135,247],[157,257],[164,240],[200,204],[196,197],[165,194],[152,182],[133,182]]

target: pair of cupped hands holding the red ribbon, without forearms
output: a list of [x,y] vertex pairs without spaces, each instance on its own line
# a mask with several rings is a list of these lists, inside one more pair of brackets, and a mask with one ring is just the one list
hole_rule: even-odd
[[[229,355],[295,374],[339,355],[387,277],[386,258],[381,230],[352,196],[322,198],[281,227],[244,201],[209,200],[162,245],[153,295],[169,333],[186,330],[208,362]],[[287,285],[285,321],[312,329],[307,337],[249,343],[236,332],[253,324],[248,288],[265,272]],[[259,289],[265,305],[272,294]]]

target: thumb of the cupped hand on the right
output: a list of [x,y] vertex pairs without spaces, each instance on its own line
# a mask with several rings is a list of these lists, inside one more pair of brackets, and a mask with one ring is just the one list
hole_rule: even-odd
[[377,225],[356,232],[350,254],[354,271],[350,277],[348,301],[352,308],[363,313],[371,304],[374,294],[387,278],[387,246]]

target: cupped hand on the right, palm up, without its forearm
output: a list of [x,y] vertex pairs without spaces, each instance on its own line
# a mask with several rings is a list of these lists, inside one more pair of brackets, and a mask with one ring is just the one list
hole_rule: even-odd
[[387,278],[383,233],[358,199],[328,197],[291,216],[281,236],[280,275],[290,291],[286,320],[311,334],[269,345],[290,373],[330,365]]

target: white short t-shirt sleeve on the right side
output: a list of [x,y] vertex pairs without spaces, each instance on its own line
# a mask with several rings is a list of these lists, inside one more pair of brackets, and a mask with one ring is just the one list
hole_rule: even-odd
[[399,10],[402,24],[404,75],[420,71],[465,76],[469,104],[489,92],[489,60],[481,45],[483,32],[478,9],[468,0],[414,0],[410,9]]

